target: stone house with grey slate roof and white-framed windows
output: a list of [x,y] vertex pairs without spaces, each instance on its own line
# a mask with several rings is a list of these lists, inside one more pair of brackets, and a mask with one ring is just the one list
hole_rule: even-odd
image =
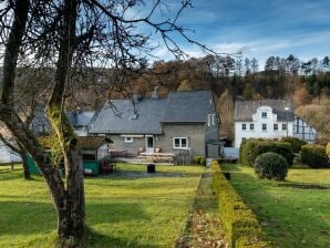
[[90,126],[90,135],[106,135],[111,148],[206,155],[218,140],[219,120],[210,91],[175,92],[161,99],[138,96],[107,101]]

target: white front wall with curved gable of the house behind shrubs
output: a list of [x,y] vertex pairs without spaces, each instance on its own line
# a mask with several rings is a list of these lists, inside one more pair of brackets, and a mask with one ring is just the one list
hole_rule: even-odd
[[[267,117],[262,118],[261,113],[266,112]],[[274,130],[274,124],[278,124],[278,131]],[[243,124],[246,124],[246,130],[243,130]],[[255,125],[255,128],[250,130],[250,124]],[[262,124],[267,124],[267,131],[262,131]],[[287,124],[287,131],[282,131],[282,124]],[[235,122],[235,147],[239,148],[243,138],[279,138],[285,136],[292,136],[293,134],[293,121],[283,122],[277,121],[277,115],[272,114],[272,110],[269,106],[260,106],[257,113],[252,115],[251,122]]]

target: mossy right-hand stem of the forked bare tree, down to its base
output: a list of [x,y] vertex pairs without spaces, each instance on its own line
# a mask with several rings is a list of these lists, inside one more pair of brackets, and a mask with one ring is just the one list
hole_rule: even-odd
[[78,148],[78,140],[63,110],[65,85],[71,76],[72,55],[75,48],[78,1],[65,1],[63,11],[64,28],[61,35],[54,87],[47,107],[47,113],[63,151],[66,178],[66,199],[59,213],[61,225],[58,228],[58,232],[64,238],[70,236],[80,238],[85,230],[82,161]]

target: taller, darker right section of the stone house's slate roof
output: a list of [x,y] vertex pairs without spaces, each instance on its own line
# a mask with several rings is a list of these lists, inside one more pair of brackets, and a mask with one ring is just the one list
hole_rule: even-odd
[[169,94],[163,123],[207,122],[214,113],[210,91],[186,91]]

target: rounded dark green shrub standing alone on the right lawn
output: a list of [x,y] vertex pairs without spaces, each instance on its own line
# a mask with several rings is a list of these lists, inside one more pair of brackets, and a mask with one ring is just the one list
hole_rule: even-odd
[[288,167],[286,158],[272,152],[262,153],[255,161],[255,172],[259,178],[283,180]]

